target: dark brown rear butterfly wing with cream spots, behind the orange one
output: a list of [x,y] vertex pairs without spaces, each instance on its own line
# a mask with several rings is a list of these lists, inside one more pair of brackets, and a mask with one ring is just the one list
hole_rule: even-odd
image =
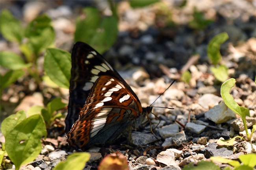
[[71,55],[71,77],[69,88],[69,105],[68,114],[65,119],[65,132],[68,133],[82,110],[91,88],[95,84],[98,77],[109,75],[122,82],[129,90],[134,98],[139,101],[130,86],[122,79],[122,77],[113,69],[108,62],[91,46],[77,42]]

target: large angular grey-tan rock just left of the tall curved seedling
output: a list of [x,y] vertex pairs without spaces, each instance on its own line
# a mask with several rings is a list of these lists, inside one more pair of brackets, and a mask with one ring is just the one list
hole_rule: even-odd
[[206,113],[204,113],[207,119],[215,123],[224,123],[231,119],[236,118],[236,113],[232,111],[224,102],[221,102],[219,105],[214,106]]

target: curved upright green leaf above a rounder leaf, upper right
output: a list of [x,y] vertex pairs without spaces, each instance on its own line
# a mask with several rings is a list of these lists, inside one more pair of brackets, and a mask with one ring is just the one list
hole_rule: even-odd
[[220,48],[221,44],[228,39],[228,34],[226,32],[220,33],[213,37],[208,44],[207,54],[213,65],[218,64],[221,61]]

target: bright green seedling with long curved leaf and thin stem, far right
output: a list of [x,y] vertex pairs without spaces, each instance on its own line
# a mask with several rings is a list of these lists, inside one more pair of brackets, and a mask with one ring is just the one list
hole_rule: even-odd
[[[236,80],[232,78],[232,79],[226,80],[222,84],[221,97],[223,98],[223,101],[225,102],[226,106],[228,106],[228,108],[230,108],[231,110],[236,112],[242,118],[243,124],[245,126],[245,132],[246,132],[247,139],[244,139],[243,137],[240,137],[240,136],[237,136],[237,137],[240,137],[240,138],[244,139],[245,141],[250,141],[250,139],[252,138],[254,129],[255,129],[255,125],[253,126],[252,133],[249,135],[248,128],[246,125],[246,119],[245,119],[246,115],[249,114],[249,109],[239,106],[234,101],[234,98],[229,93],[231,88],[234,87],[235,82],[236,82]],[[232,140],[232,139],[230,139],[230,140]]]

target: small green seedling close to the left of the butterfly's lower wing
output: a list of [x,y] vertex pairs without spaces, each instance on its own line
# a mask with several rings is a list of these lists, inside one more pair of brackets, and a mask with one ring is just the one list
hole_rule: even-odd
[[27,115],[31,116],[34,114],[41,114],[45,120],[46,128],[49,128],[55,119],[62,117],[62,114],[60,112],[54,114],[55,111],[60,110],[65,106],[67,106],[67,104],[63,103],[60,98],[55,98],[47,104],[47,108],[43,106],[31,107],[28,110]]

